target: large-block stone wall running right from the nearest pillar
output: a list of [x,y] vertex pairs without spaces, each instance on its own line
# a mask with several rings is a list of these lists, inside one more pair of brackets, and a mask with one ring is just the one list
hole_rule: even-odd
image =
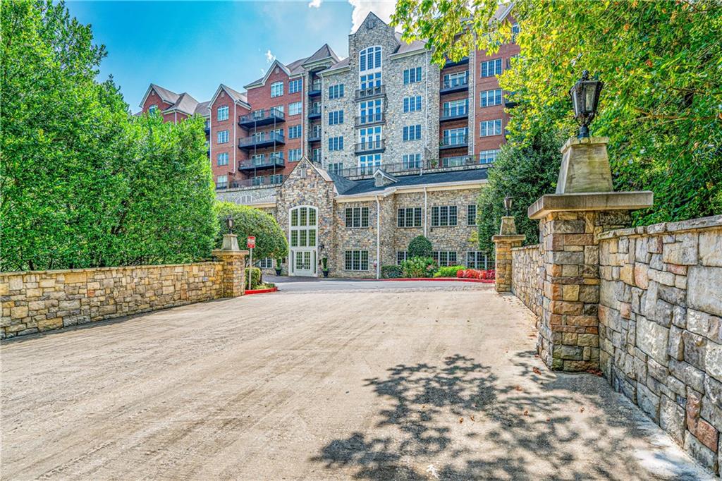
[[601,371],[718,473],[722,216],[598,238]]

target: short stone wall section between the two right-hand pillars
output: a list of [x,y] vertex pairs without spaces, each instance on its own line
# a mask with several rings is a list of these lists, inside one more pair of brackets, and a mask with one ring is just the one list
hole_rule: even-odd
[[540,245],[513,248],[511,258],[511,292],[540,319],[544,289]]

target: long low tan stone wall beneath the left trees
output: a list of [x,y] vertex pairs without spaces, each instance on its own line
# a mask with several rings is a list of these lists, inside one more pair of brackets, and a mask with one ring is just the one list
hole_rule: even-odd
[[0,273],[0,339],[223,297],[222,262]]

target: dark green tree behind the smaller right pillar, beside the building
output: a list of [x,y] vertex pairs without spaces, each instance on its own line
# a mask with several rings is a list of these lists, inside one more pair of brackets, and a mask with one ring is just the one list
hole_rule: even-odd
[[511,196],[509,215],[517,232],[526,235],[525,244],[539,242],[539,222],[530,220],[526,209],[544,194],[554,192],[562,162],[562,137],[554,131],[535,134],[529,142],[509,142],[489,169],[488,183],[479,194],[479,248],[494,252],[492,235],[499,233],[506,215],[505,196]]

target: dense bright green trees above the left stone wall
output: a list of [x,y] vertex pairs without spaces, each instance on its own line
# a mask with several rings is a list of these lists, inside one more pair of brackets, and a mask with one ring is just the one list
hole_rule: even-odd
[[1,11],[0,269],[181,262],[216,222],[201,121],[131,119],[62,2]]

